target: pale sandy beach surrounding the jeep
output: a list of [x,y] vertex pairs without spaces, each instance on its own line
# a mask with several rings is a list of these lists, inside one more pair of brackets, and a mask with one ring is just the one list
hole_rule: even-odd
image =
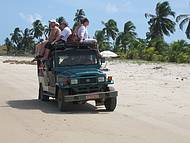
[[35,65],[0,57],[1,143],[189,143],[190,65],[111,61],[119,91],[112,113],[93,102],[61,113],[41,102]]

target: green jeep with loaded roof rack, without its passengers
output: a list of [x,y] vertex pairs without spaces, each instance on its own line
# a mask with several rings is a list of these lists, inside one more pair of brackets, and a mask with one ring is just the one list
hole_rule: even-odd
[[114,111],[118,92],[110,86],[112,77],[101,70],[105,59],[97,46],[62,44],[54,49],[47,61],[38,61],[39,99],[55,98],[60,111],[67,103],[85,104],[89,100]]

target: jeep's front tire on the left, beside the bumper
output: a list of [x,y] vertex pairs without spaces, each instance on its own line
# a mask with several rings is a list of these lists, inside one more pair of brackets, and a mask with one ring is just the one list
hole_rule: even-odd
[[64,101],[64,95],[68,95],[67,91],[58,90],[58,94],[57,94],[57,103],[58,103],[58,108],[61,112],[65,111],[65,101]]

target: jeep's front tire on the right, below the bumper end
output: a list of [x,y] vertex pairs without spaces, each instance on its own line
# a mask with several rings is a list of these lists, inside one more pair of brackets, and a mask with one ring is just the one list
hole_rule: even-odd
[[104,105],[106,107],[106,111],[113,112],[117,105],[117,97],[106,99]]

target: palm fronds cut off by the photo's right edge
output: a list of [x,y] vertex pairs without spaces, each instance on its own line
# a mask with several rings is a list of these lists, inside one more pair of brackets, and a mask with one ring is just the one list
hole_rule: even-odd
[[185,34],[188,39],[190,39],[190,14],[181,14],[177,16],[176,22],[180,22],[179,27],[183,30],[184,26],[187,24]]

